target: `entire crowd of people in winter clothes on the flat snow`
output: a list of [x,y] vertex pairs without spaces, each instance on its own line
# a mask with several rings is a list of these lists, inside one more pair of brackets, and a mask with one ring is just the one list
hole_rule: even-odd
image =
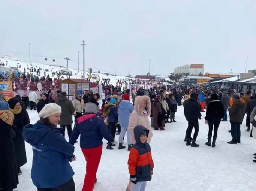
[[[73,101],[62,91],[43,93],[38,101],[35,92],[30,92],[28,100],[19,95],[8,102],[0,100],[0,152],[4,156],[0,161],[0,190],[17,188],[21,167],[27,163],[26,141],[33,149],[31,178],[37,190],[75,191],[70,162],[76,160],[74,145],[80,136],[81,152],[86,159],[82,191],[92,191],[97,182],[103,138],[108,141],[106,149],[113,150],[118,144],[117,149],[127,149],[130,153],[127,159],[130,179],[126,190],[144,191],[154,169],[150,148],[153,131],[165,130],[167,123],[175,124],[175,113],[182,104],[188,121],[184,139],[187,146],[199,147],[196,143],[199,120],[205,110],[205,123],[209,127],[207,146],[216,146],[221,120],[228,120],[227,111],[232,137],[228,144],[241,143],[240,125],[245,114],[247,131],[251,137],[256,134],[256,130],[250,129],[251,124],[256,127],[256,97],[250,91],[242,94],[219,86],[182,84],[122,91],[119,86],[106,83],[103,88],[105,97],[85,91]],[[37,123],[30,124],[27,107],[38,112]],[[66,130],[69,139],[65,139]],[[118,141],[116,135],[119,135]]]

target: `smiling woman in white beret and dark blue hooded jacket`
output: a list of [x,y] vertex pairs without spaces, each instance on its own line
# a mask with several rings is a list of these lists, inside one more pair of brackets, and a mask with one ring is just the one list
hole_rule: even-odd
[[76,160],[74,146],[56,128],[60,114],[59,105],[47,104],[39,112],[40,120],[23,130],[24,140],[33,149],[31,178],[37,191],[75,191],[75,173],[69,164]]

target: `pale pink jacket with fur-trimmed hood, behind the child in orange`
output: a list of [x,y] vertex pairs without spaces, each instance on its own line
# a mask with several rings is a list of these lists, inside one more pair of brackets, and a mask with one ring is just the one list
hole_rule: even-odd
[[[143,103],[145,101],[146,101],[147,112],[145,112],[145,110],[144,110],[145,108],[143,108]],[[137,125],[142,125],[150,131],[149,135],[148,135],[148,139],[147,139],[147,143],[150,143],[151,137],[153,136],[152,130],[150,127],[150,121],[149,121],[150,110],[151,110],[151,102],[150,102],[149,96],[143,95],[143,96],[137,96],[135,98],[134,110],[130,114],[129,125],[128,125],[128,130],[131,135],[131,143],[132,144],[136,143],[135,138],[134,138],[133,129]]]

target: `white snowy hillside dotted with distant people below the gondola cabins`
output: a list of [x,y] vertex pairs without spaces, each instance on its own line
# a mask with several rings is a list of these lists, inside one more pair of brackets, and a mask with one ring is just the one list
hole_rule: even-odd
[[[15,59],[6,54],[0,54],[0,60],[1,60],[0,63],[3,62],[5,64],[5,66],[6,66],[6,63],[7,63],[7,66],[10,66],[10,67],[17,67],[18,65],[20,65],[21,68],[18,68],[20,72],[24,72],[24,68],[26,70],[26,73],[27,73],[27,68],[32,68],[32,67],[36,68],[36,69],[42,68],[42,70],[40,71],[40,76],[43,76],[44,70],[48,69],[48,71],[46,72],[46,76],[49,74],[49,76],[51,78],[57,78],[57,75],[52,76],[52,72],[57,72],[57,71],[61,71],[61,70],[65,69],[65,67],[63,67],[63,66],[50,66],[47,64],[35,63],[35,62],[31,62],[31,64],[30,64],[28,61],[22,61],[19,59]],[[53,64],[58,65],[58,63],[55,63],[55,62],[53,62]],[[72,76],[70,76],[70,78],[82,78],[82,76],[83,76],[82,70],[77,71],[76,69],[71,69],[71,68],[68,68],[68,69],[72,72]],[[37,75],[36,72],[29,71],[29,73],[33,73],[33,75]],[[63,79],[67,78],[65,75],[61,75],[61,77],[62,76],[63,76]],[[85,71],[85,78],[88,78],[88,76],[89,76],[89,72]],[[93,76],[99,77],[100,82],[102,82],[101,81],[102,79],[110,79],[110,84],[113,84],[113,85],[115,85],[116,82],[120,79],[128,80],[128,77],[126,77],[126,76],[111,76],[111,75],[107,76],[106,74],[102,74],[102,73],[92,73],[92,77]],[[91,81],[96,81],[96,80],[91,79]]]

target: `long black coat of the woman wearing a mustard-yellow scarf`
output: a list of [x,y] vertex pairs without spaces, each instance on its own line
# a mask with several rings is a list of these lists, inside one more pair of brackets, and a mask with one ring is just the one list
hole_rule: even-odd
[[15,154],[17,159],[18,168],[27,163],[27,155],[25,149],[25,141],[22,137],[23,128],[25,125],[29,124],[29,116],[27,114],[27,110],[22,107],[22,111],[15,115],[12,129],[15,131],[16,136],[12,139],[15,148]]

